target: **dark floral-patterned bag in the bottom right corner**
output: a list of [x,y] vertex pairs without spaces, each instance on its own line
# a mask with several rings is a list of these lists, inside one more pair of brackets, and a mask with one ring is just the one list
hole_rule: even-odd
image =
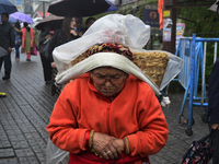
[[182,164],[207,164],[212,157],[212,149],[208,142],[194,141],[183,157]]

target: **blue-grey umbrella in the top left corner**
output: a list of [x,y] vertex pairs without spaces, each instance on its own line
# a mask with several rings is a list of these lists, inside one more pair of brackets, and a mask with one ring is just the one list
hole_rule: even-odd
[[11,14],[16,11],[18,11],[16,7],[13,3],[11,3],[9,0],[0,0],[0,14],[3,12]]

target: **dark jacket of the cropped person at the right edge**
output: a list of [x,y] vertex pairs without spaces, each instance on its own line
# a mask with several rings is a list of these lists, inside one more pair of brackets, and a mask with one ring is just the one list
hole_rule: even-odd
[[219,124],[219,58],[210,72],[206,120],[210,124]]

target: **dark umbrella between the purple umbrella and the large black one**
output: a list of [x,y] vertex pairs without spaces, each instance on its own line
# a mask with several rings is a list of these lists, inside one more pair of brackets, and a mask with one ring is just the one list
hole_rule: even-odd
[[37,30],[43,31],[44,26],[48,24],[50,26],[50,31],[59,30],[61,27],[64,17],[62,16],[56,16],[56,15],[49,15],[45,19],[43,19],[41,22],[38,22],[35,27]]

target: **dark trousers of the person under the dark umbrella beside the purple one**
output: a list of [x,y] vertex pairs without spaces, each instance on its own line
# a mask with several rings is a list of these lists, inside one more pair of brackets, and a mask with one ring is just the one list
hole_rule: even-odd
[[42,54],[41,54],[41,60],[42,60],[42,66],[43,66],[43,71],[44,71],[44,80],[51,81],[50,61],[48,59],[46,59]]

